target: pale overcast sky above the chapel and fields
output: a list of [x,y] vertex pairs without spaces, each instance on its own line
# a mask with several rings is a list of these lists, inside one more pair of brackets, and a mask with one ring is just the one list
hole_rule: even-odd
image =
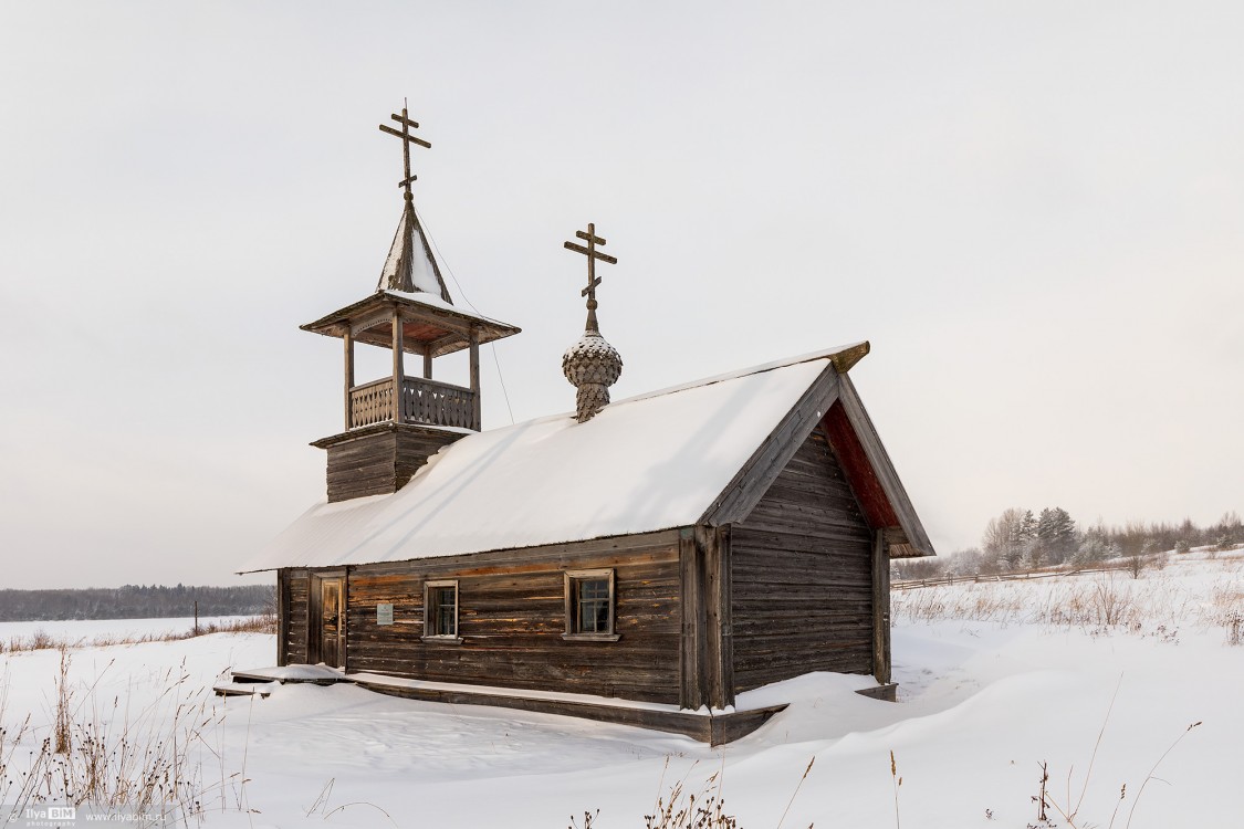
[[403,96],[455,302],[524,328],[485,428],[573,408],[595,221],[615,399],[868,339],[939,551],[1013,506],[1214,522],[1242,42],[1235,0],[0,0],[0,587],[236,583],[322,497],[341,346],[297,326],[374,288]]

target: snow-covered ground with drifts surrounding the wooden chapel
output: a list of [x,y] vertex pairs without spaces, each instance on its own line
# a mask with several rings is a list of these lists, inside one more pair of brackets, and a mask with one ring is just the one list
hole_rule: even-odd
[[[1088,607],[1095,593],[1135,613],[1113,625],[1071,611],[1050,621],[1056,605]],[[749,829],[899,819],[1023,829],[1035,822],[1042,761],[1050,798],[1062,809],[1080,804],[1074,822],[1051,809],[1050,825],[1108,827],[1116,807],[1120,828],[1244,825],[1235,789],[1244,645],[1230,644],[1232,614],[1244,611],[1240,559],[1173,561],[1136,580],[1117,573],[926,588],[896,593],[894,604],[899,703],[852,694],[861,677],[801,677],[751,692],[751,701],[792,705],[718,749],[345,685],[287,685],[266,700],[209,696],[225,669],[272,662],[272,638],[258,634],[82,648],[70,670],[78,716],[117,722],[128,707],[133,736],[158,718],[144,721],[144,708],[170,716],[178,695],[203,706],[194,717],[207,723],[199,771],[183,776],[203,793],[208,827],[562,829],[572,814],[582,827],[582,813],[597,809],[595,829],[642,827],[674,782],[698,792],[718,773],[725,812]],[[29,631],[0,635],[11,633]],[[11,752],[10,774],[50,730],[58,659],[0,656],[4,726],[11,735],[26,712],[36,726]],[[0,762],[4,751],[0,743]],[[902,778],[897,815],[891,752]]]

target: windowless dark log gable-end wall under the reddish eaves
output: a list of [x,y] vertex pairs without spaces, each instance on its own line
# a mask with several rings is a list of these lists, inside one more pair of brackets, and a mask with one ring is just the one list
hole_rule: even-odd
[[873,670],[871,531],[817,428],[730,534],[734,687]]

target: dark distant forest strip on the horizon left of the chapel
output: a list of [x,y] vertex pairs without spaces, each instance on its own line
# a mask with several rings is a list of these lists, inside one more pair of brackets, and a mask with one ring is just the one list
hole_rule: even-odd
[[245,616],[274,613],[276,588],[163,587],[126,584],[85,590],[0,590],[0,621],[56,621],[61,619],[170,619],[193,616]]

